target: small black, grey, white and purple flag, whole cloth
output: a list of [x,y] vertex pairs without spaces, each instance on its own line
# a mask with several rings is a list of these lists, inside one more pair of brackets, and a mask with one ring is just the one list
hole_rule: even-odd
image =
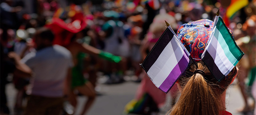
[[167,93],[186,70],[189,55],[169,26],[141,66],[155,86]]

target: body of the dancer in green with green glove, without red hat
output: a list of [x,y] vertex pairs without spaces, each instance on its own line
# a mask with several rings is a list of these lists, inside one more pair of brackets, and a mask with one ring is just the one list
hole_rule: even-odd
[[79,43],[77,42],[79,38],[82,38],[83,34],[82,32],[78,32],[74,35],[73,38],[71,38],[71,42],[69,45],[66,46],[66,48],[71,52],[73,56],[73,62],[75,66],[72,68],[72,83],[71,83],[71,89],[72,89],[72,96],[70,96],[69,100],[71,104],[76,107],[77,100],[76,96],[73,93],[73,90],[78,90],[79,93],[82,95],[85,95],[88,97],[88,100],[82,110],[81,114],[85,114],[88,109],[91,107],[95,100],[95,90],[94,86],[91,84],[88,79],[86,79],[83,76],[83,59],[85,58],[84,53],[88,53],[94,56],[102,57],[106,60],[112,61],[112,62],[120,62],[121,57],[120,56],[114,56],[108,52],[103,52],[101,50],[98,50],[95,47],[92,47],[86,43]]

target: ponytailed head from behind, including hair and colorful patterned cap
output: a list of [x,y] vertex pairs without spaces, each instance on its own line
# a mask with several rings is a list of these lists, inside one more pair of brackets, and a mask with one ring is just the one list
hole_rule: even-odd
[[218,81],[202,61],[201,55],[209,40],[212,25],[213,21],[203,19],[183,24],[178,29],[178,38],[196,64],[190,61],[190,67],[177,81],[181,96],[170,110],[171,115],[219,115],[226,109],[225,92],[237,75],[237,67]]

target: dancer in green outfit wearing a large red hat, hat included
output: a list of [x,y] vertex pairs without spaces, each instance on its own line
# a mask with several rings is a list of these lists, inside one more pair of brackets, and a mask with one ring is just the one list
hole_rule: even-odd
[[[81,113],[85,114],[93,104],[96,96],[94,90],[96,78],[93,79],[93,83],[91,83],[87,78],[83,76],[83,70],[85,66],[84,59],[86,58],[86,55],[89,54],[98,56],[115,63],[120,62],[122,58],[120,56],[114,56],[108,52],[98,50],[97,48],[90,46],[87,43],[83,43],[82,39],[86,35],[91,34],[88,32],[88,28],[86,28],[87,23],[82,12],[78,11],[73,17],[70,17],[70,19],[72,24],[76,24],[76,26],[81,27],[75,28],[75,26],[73,26],[74,28],[71,28],[70,24],[66,23],[60,18],[53,18],[52,23],[49,23],[46,26],[49,27],[56,35],[54,38],[54,43],[65,46],[73,56],[73,63],[75,66],[71,70],[71,84],[67,85],[67,87],[71,88],[71,91],[67,92],[67,94],[70,94],[68,96],[68,100],[70,101],[70,104],[76,108],[77,98],[76,94],[74,94],[74,90],[77,90],[80,94],[87,96],[88,100],[86,101],[86,104],[83,107]],[[96,77],[95,71],[89,72],[89,75],[90,77]]]

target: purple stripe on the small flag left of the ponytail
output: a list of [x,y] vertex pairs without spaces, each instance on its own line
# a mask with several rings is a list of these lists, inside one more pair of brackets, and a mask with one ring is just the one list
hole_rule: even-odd
[[172,87],[176,83],[178,78],[188,66],[189,56],[187,55],[185,50],[183,51],[184,52],[181,60],[179,60],[178,64],[173,68],[173,70],[171,70],[165,81],[163,81],[163,83],[159,86],[159,89],[165,93],[167,93],[170,90],[170,87]]

